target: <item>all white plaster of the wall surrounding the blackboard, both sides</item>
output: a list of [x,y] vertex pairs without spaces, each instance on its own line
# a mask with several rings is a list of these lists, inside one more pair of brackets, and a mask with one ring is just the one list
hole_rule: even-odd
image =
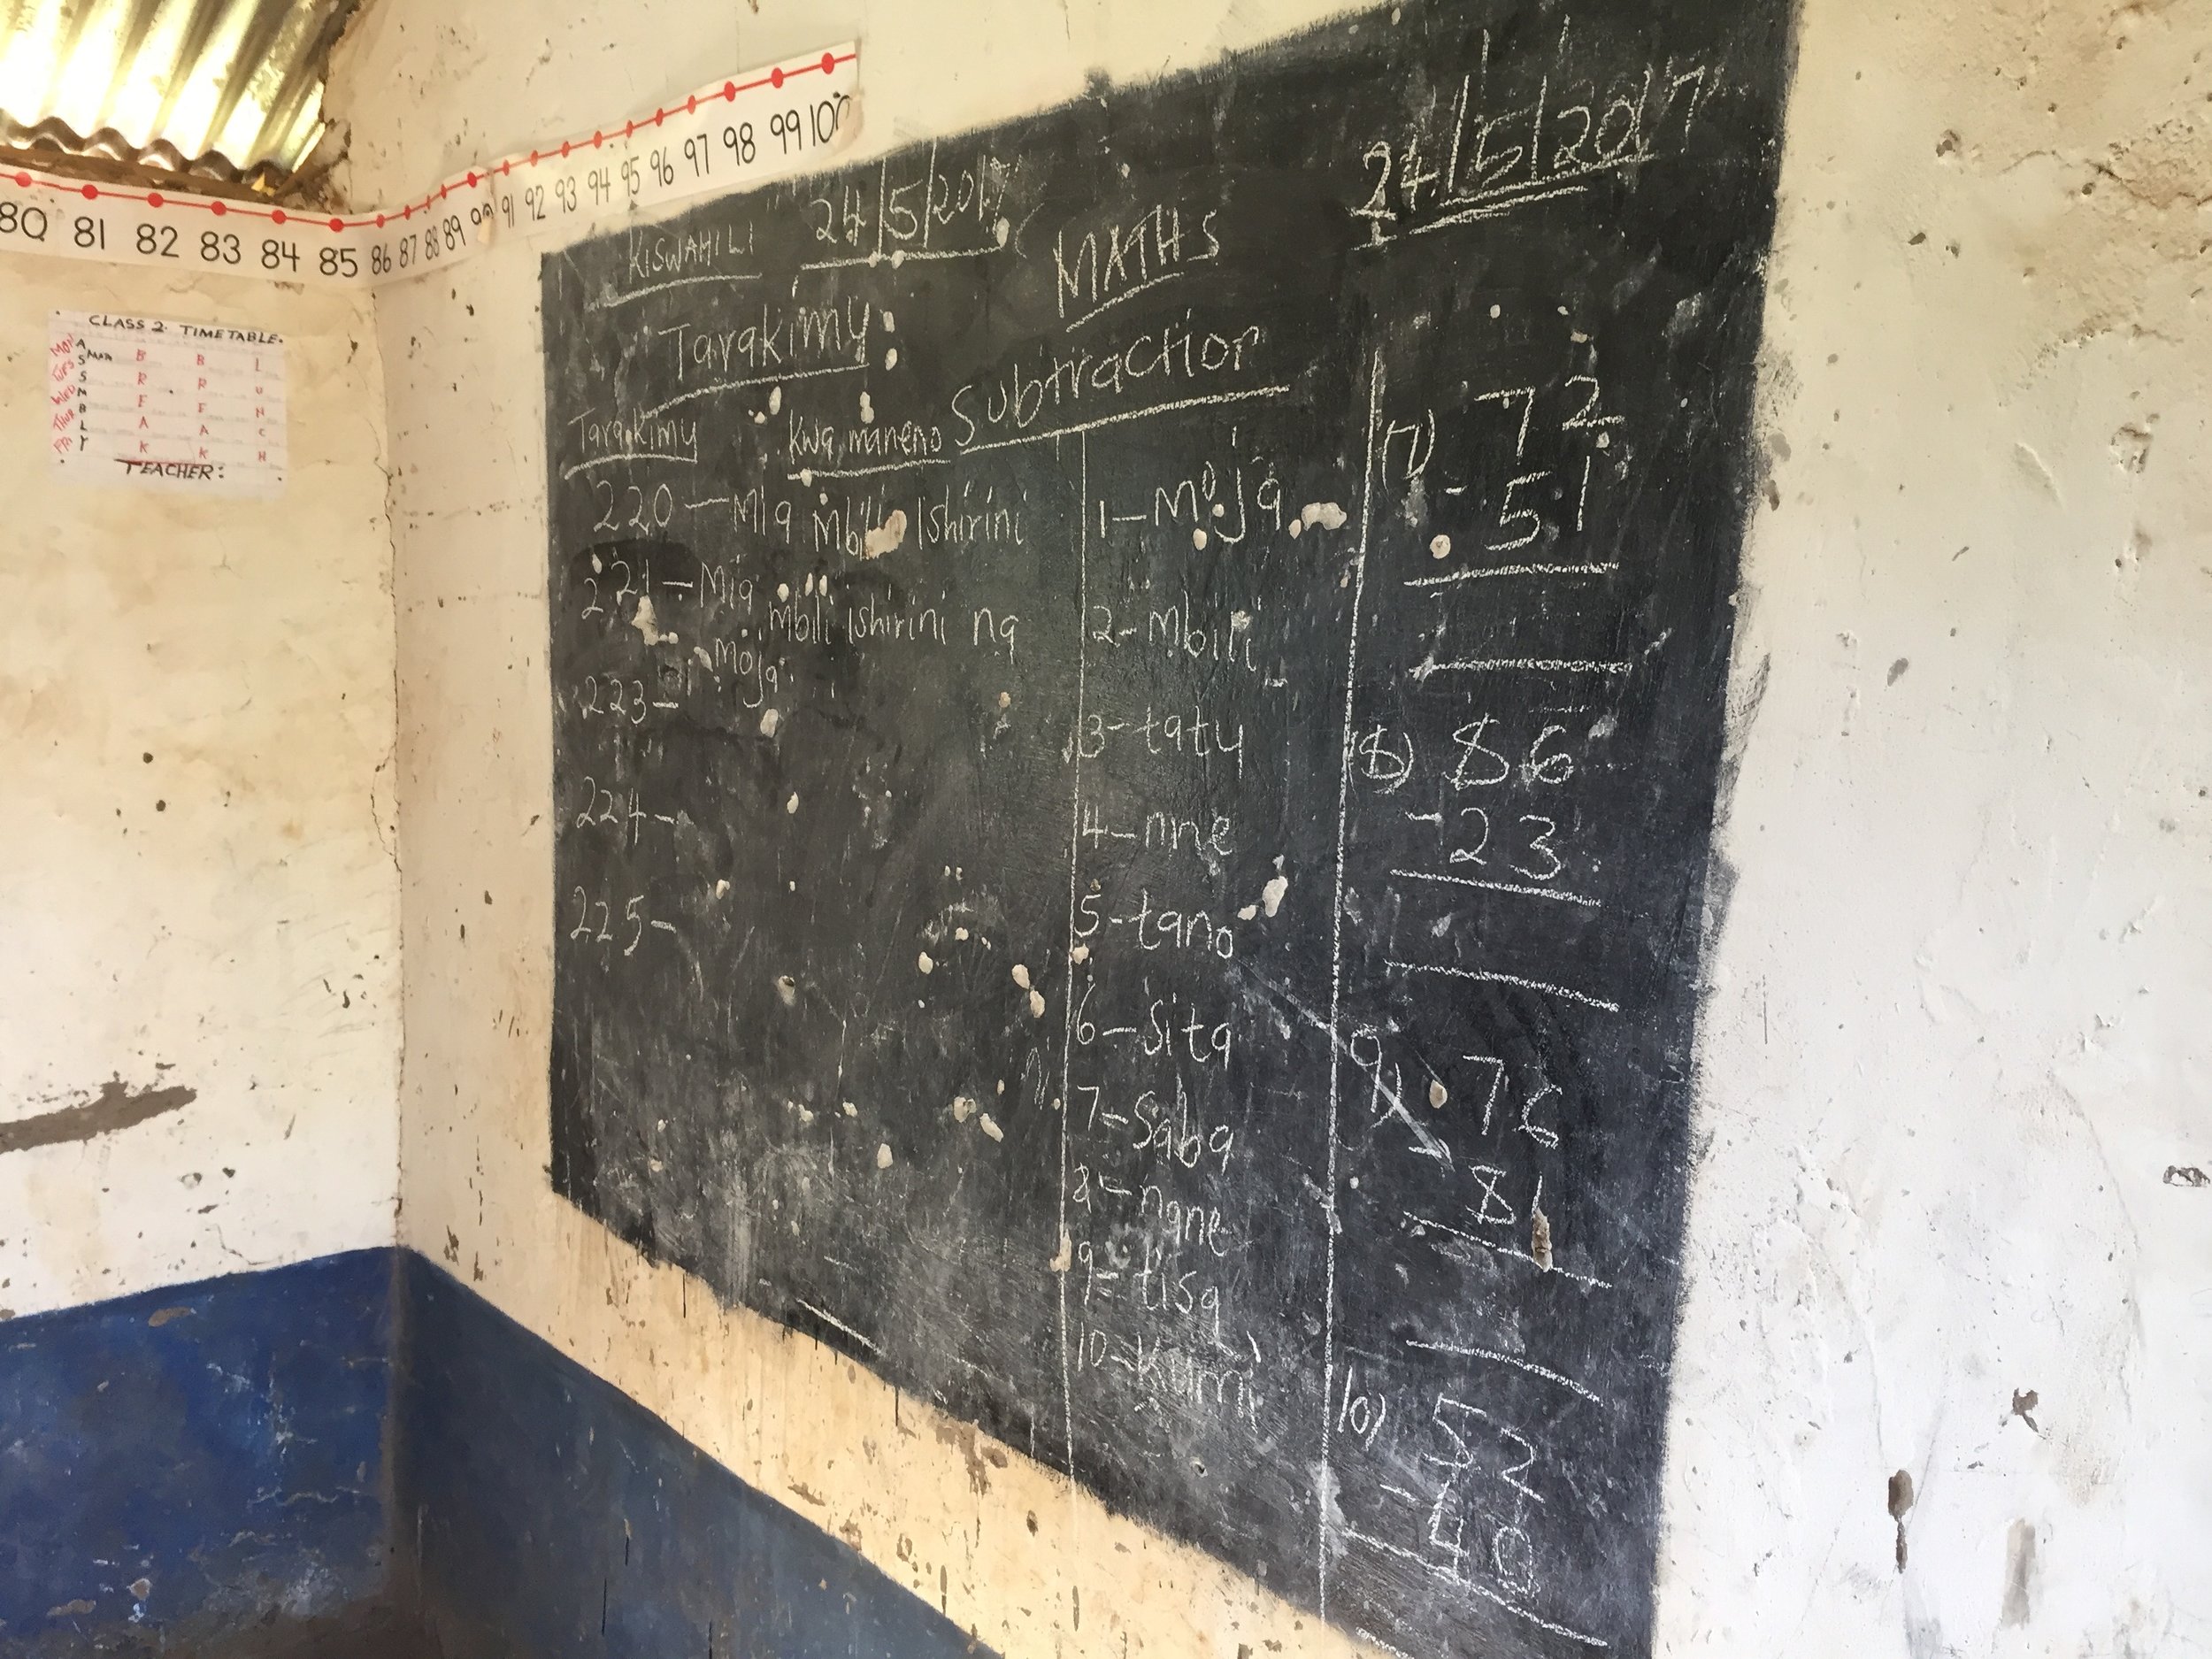
[[[332,102],[374,201],[847,33],[865,155],[1327,9],[378,0]],[[1668,1652],[2212,1650],[2212,1190],[2163,1179],[2212,1168],[2208,53],[2185,4],[1805,0]],[[535,270],[376,312],[403,1239],[1006,1655],[1349,1652],[553,1199]]]

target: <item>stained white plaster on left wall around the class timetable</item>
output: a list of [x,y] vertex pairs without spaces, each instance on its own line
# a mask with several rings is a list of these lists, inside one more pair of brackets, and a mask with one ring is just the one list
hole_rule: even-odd
[[[46,321],[285,336],[290,482],[64,482]],[[0,1307],[392,1243],[398,867],[369,307],[0,257],[0,1124],[192,1099],[0,1155]]]

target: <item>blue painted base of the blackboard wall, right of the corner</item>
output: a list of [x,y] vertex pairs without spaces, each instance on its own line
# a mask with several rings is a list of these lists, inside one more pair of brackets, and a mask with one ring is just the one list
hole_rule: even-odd
[[422,1256],[400,1281],[398,1498],[447,1659],[984,1652]]

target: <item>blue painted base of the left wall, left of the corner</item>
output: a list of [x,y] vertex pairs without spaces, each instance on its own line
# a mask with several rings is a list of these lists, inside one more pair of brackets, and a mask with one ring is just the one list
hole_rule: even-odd
[[276,1650],[376,1601],[394,1270],[367,1250],[0,1325],[0,1650]]

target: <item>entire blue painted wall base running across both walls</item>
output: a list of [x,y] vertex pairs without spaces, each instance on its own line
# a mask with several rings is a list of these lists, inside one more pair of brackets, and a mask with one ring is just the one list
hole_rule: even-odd
[[978,1652],[411,1252],[0,1325],[11,1659]]

